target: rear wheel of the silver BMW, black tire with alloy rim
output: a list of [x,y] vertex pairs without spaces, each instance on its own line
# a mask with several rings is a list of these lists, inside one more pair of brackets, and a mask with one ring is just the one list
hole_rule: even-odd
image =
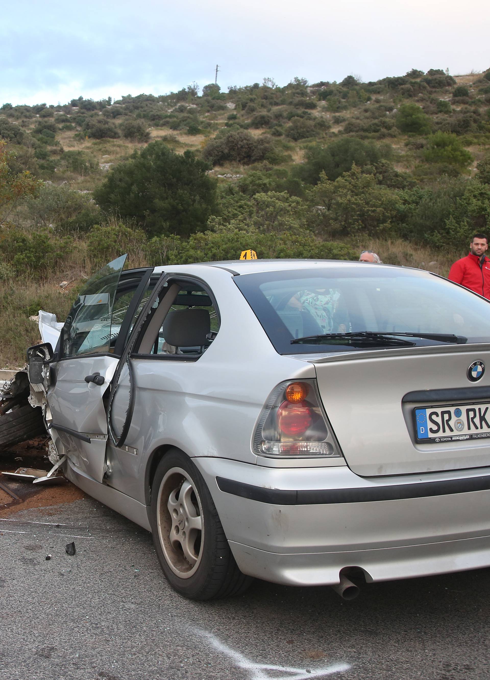
[[170,449],[154,475],[153,542],[172,588],[191,600],[242,594],[252,578],[238,568],[201,473],[186,454]]

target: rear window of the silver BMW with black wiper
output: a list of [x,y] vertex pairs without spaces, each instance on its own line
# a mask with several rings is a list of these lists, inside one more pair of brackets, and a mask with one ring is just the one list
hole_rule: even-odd
[[321,266],[234,281],[280,354],[490,342],[489,302],[428,272]]

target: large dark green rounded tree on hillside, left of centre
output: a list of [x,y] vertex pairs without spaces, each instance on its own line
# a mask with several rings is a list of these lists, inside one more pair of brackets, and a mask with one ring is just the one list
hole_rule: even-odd
[[110,170],[94,198],[105,211],[135,218],[152,235],[189,236],[203,231],[216,209],[216,180],[206,174],[208,167],[191,151],[176,154],[153,141]]

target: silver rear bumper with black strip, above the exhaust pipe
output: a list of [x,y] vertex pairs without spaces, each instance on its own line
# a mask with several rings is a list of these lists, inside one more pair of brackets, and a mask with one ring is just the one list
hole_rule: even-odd
[[[270,469],[194,458],[244,573],[333,585],[490,566],[490,470],[365,479],[345,466]],[[218,481],[216,481],[218,478]]]

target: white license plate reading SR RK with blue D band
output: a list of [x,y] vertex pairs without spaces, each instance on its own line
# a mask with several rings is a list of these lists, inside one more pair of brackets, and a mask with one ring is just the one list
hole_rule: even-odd
[[419,443],[490,438],[490,403],[414,409]]

